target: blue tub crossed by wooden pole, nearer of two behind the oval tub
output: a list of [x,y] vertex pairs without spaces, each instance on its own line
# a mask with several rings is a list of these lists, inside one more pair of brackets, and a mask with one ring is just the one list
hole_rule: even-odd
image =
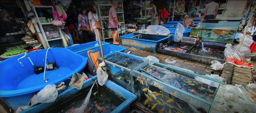
[[[111,54],[114,53],[114,51],[124,52],[124,50],[126,50],[126,48],[124,48],[124,47],[117,46],[117,45],[111,45],[111,44],[110,45],[102,46],[102,49],[103,49],[104,56],[111,55]],[[92,49],[92,50],[100,51],[100,48],[95,48],[95,49]],[[81,52],[81,53],[78,53],[78,54],[88,58],[88,54],[87,53],[88,53],[88,51],[84,51],[84,52]],[[100,52],[100,57],[101,57],[101,52]]]

